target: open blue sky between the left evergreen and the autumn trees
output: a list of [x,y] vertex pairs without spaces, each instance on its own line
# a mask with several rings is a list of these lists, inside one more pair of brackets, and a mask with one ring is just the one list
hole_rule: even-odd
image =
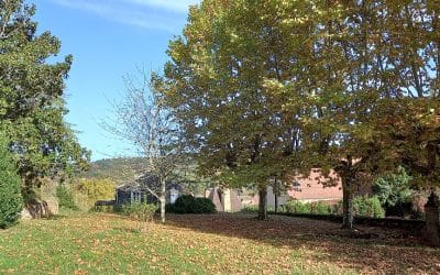
[[51,31],[62,52],[74,56],[66,81],[67,122],[92,160],[130,155],[127,142],[100,129],[120,100],[122,77],[136,67],[161,70],[168,41],[179,35],[189,4],[199,0],[29,0],[36,6],[38,32]]

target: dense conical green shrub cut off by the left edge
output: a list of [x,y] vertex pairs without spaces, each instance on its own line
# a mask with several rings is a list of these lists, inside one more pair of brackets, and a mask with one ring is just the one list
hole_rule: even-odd
[[22,209],[21,178],[8,150],[8,140],[0,135],[0,228],[15,224]]

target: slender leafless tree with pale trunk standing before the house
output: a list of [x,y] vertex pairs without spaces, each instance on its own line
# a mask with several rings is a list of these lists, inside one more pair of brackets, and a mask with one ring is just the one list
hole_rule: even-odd
[[178,123],[172,111],[162,102],[160,78],[124,78],[127,94],[122,102],[113,105],[113,123],[103,122],[110,133],[129,141],[143,162],[142,174],[154,175],[158,184],[143,187],[161,202],[161,220],[165,222],[166,183],[180,163]]

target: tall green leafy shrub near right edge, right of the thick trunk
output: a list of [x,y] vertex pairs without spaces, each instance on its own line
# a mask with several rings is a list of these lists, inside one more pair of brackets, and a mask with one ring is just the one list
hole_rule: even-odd
[[409,202],[414,190],[409,182],[411,177],[404,167],[399,167],[396,174],[378,178],[373,186],[374,194],[383,206],[394,207]]

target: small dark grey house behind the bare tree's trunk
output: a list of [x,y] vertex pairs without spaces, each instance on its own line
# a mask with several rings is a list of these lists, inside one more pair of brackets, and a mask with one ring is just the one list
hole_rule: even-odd
[[[131,183],[118,186],[116,189],[116,205],[128,205],[132,202],[156,204],[157,198],[150,190],[158,190],[158,177],[144,174]],[[175,182],[166,183],[166,202],[174,204],[182,196],[183,186]]]

